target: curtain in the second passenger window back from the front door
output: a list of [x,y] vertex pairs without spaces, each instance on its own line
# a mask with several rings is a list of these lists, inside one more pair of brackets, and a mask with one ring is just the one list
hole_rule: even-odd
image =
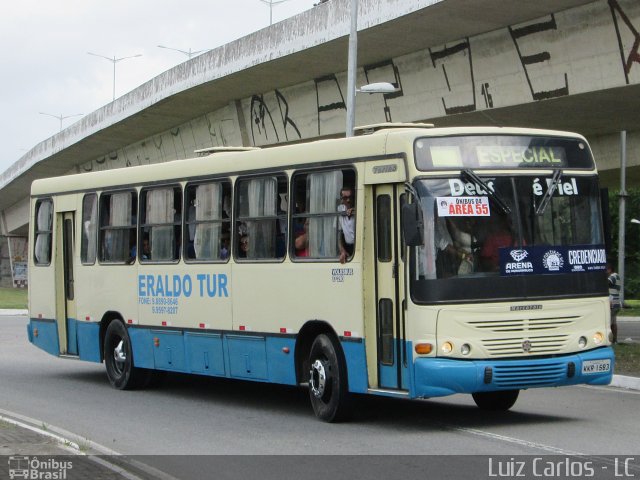
[[276,253],[276,216],[278,182],[275,178],[249,180],[249,251],[250,258],[273,258]]

